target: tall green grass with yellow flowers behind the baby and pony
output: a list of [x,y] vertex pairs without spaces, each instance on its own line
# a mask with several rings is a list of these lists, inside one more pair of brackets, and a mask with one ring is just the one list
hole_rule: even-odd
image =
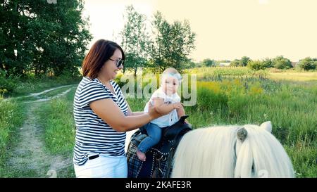
[[[209,78],[206,78],[209,79]],[[143,110],[147,99],[128,99]],[[221,77],[197,82],[197,104],[185,107],[194,128],[220,124],[261,124],[285,146],[297,177],[317,177],[317,82]]]

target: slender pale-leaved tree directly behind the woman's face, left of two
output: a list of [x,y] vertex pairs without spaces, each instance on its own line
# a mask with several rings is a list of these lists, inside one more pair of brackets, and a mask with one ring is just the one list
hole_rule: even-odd
[[133,6],[126,8],[124,15],[126,22],[120,32],[121,44],[125,51],[125,68],[123,70],[134,70],[144,67],[147,63],[147,47],[149,35],[146,29],[146,16],[135,11]]

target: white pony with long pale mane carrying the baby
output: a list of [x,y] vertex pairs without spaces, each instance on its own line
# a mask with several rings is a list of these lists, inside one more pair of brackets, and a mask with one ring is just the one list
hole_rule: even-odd
[[194,129],[183,136],[171,177],[294,177],[271,122]]

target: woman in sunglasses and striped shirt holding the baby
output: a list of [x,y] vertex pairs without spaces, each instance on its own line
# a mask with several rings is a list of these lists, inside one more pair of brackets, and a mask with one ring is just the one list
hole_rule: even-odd
[[74,99],[76,177],[127,177],[125,132],[161,117],[152,105],[149,113],[132,113],[112,79],[123,68],[123,49],[100,39],[82,63],[83,78]]

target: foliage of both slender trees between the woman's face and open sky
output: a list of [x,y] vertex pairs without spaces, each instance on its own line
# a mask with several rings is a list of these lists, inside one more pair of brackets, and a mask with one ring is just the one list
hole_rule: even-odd
[[126,57],[123,70],[133,70],[136,76],[137,69],[144,67],[154,72],[162,72],[168,67],[179,71],[194,67],[188,56],[194,49],[196,34],[187,20],[168,23],[157,12],[151,21],[152,34],[149,35],[146,16],[137,13],[133,6],[126,8],[124,17],[125,25],[120,32]]

